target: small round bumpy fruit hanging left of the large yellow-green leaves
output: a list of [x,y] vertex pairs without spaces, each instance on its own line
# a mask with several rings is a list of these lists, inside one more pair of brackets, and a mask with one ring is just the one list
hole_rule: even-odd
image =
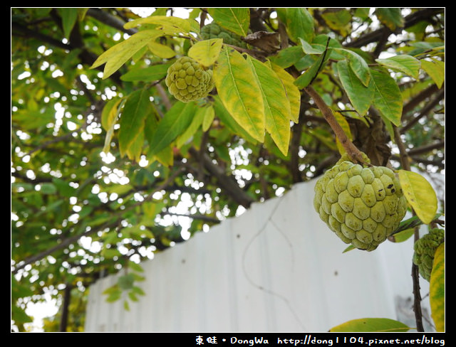
[[168,68],[165,84],[170,93],[182,102],[205,97],[214,88],[212,70],[204,70],[190,57],[179,58]]

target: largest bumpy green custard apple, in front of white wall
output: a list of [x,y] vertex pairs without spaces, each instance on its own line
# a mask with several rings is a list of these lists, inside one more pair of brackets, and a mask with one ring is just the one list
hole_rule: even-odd
[[372,251],[398,228],[407,201],[392,170],[342,156],[316,182],[314,208],[343,242]]

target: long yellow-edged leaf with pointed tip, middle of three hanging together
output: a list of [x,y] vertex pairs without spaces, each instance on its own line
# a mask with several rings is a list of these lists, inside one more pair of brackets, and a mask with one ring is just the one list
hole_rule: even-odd
[[288,154],[290,142],[290,102],[274,70],[250,56],[247,58],[259,84],[264,103],[266,131],[281,153]]

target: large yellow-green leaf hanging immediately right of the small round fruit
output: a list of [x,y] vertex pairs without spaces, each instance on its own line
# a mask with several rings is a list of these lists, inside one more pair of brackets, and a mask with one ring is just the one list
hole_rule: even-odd
[[229,114],[254,139],[264,141],[264,104],[249,63],[236,50],[225,47],[214,67],[220,100]]

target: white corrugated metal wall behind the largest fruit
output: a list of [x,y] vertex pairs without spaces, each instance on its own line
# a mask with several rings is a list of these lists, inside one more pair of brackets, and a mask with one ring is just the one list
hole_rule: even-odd
[[[313,196],[314,181],[300,183],[143,262],[146,294],[130,311],[101,294],[116,277],[100,279],[86,331],[316,332],[366,317],[414,326],[413,240],[343,253]],[[429,285],[420,284],[425,297]]]

